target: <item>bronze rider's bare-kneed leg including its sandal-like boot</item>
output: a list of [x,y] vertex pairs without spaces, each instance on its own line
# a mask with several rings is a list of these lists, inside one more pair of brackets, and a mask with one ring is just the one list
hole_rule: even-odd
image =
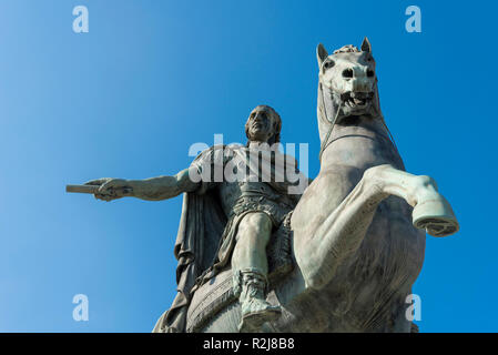
[[278,306],[266,302],[266,245],[272,226],[270,216],[262,212],[247,214],[238,224],[232,271],[242,306],[241,332],[256,332],[264,322],[274,320],[281,312]]

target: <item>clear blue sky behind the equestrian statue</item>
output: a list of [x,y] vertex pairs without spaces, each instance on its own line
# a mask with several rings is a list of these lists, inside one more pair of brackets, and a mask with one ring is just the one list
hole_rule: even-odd
[[[461,3],[461,4],[460,4]],[[84,4],[90,32],[72,31]],[[421,9],[421,33],[405,9]],[[186,168],[192,143],[244,140],[260,103],[318,171],[318,42],[368,36],[407,170],[461,224],[427,239],[423,332],[496,332],[496,1],[0,2],[0,331],[150,332],[174,295],[181,197],[111,203],[68,183]],[[72,297],[87,294],[89,322]]]

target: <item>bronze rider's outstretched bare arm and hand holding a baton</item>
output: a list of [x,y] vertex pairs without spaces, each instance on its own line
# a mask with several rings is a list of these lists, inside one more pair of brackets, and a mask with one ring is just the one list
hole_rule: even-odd
[[183,192],[195,191],[199,184],[190,179],[189,169],[182,170],[173,176],[157,176],[145,180],[104,178],[85,183],[85,185],[100,185],[98,193],[94,195],[96,199],[104,201],[112,201],[123,196],[161,201],[175,197]]

